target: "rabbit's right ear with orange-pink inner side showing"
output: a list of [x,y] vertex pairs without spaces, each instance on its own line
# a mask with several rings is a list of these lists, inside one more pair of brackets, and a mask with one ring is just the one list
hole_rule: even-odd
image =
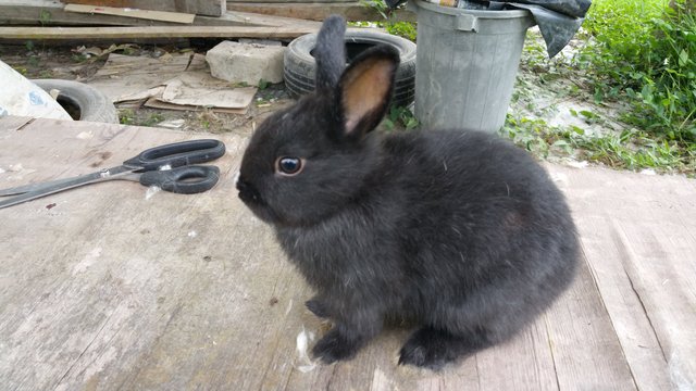
[[399,66],[396,49],[380,46],[361,53],[338,83],[344,131],[349,138],[361,138],[384,117]]

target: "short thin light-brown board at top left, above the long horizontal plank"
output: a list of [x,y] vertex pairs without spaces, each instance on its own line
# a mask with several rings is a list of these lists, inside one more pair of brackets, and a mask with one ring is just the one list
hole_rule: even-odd
[[220,16],[226,11],[225,0],[61,0],[66,4],[86,4],[141,10],[184,12]]

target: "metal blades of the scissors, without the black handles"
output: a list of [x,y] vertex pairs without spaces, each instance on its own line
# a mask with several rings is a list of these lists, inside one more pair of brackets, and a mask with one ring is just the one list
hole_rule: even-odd
[[[25,188],[34,188],[35,190],[27,191],[15,195],[9,200],[0,201],[0,209],[16,205],[23,202],[36,200],[41,197],[54,194],[67,189],[73,189],[79,186],[95,184],[109,179],[120,179],[122,176],[132,173],[133,169],[124,166],[114,167],[111,169],[102,171],[99,173],[87,174],[75,178],[59,179],[46,184],[27,185]],[[18,188],[15,188],[18,189]],[[10,189],[7,189],[10,190]],[[7,191],[5,190],[5,191]]]

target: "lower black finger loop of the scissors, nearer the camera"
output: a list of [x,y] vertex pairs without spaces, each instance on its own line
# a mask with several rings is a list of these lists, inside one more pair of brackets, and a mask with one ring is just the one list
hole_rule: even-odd
[[179,194],[194,194],[210,190],[217,184],[220,168],[215,166],[182,166],[165,171],[149,171],[140,175],[140,184],[158,186]]

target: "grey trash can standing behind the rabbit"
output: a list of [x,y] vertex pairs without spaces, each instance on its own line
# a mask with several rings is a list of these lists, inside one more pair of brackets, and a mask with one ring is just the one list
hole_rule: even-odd
[[415,116],[425,129],[496,133],[527,28],[526,10],[478,11],[409,1],[418,13]]

